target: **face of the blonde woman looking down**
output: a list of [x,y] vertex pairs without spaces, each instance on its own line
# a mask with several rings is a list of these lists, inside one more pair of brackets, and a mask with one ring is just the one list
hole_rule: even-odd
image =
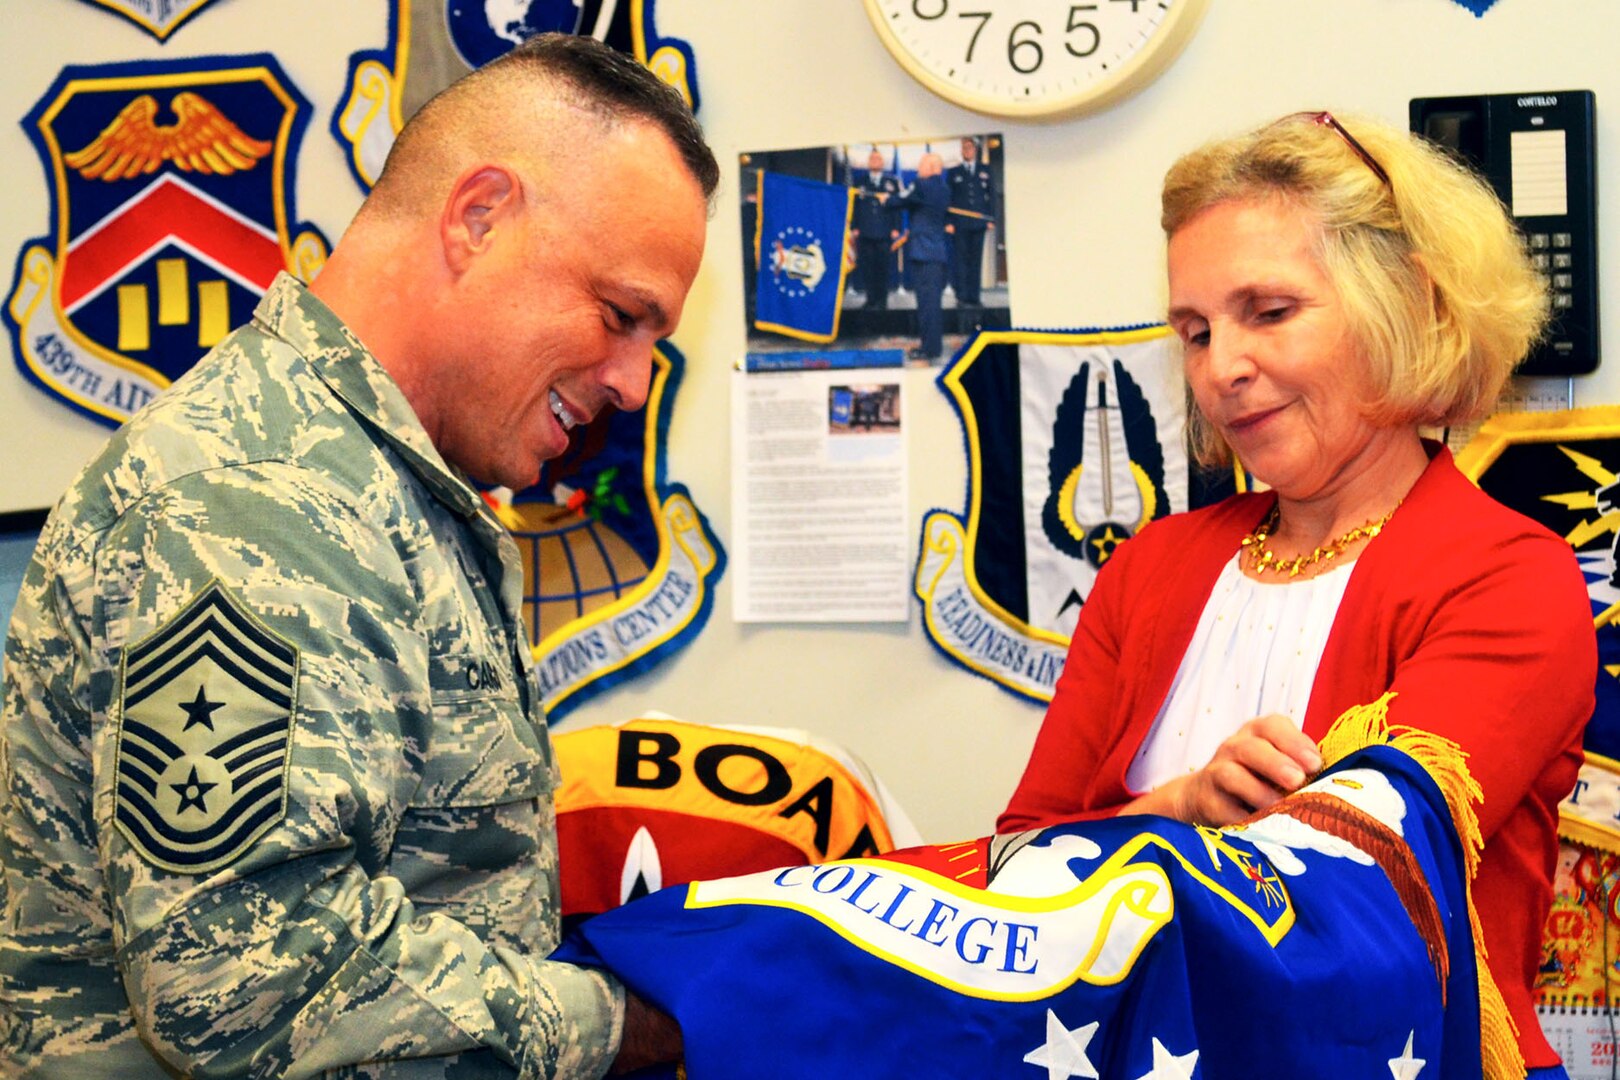
[[1281,199],[1218,202],[1170,238],[1170,325],[1199,410],[1291,499],[1341,487],[1390,436],[1361,413],[1366,363],[1314,240]]

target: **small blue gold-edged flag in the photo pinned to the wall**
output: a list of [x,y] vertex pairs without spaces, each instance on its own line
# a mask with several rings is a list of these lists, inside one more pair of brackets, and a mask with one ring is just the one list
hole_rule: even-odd
[[855,189],[761,172],[758,194],[753,325],[831,342],[844,309],[844,244]]

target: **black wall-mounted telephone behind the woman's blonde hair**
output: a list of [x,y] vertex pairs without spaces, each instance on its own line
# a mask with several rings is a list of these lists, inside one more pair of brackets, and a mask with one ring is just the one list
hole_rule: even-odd
[[1411,130],[1481,172],[1552,287],[1552,327],[1520,376],[1597,368],[1597,154],[1591,91],[1414,97]]

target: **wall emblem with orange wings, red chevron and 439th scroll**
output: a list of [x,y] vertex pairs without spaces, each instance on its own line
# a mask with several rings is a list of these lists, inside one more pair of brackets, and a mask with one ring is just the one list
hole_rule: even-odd
[[313,279],[327,243],[292,207],[308,118],[267,53],[63,68],[23,118],[52,215],[3,313],[23,374],[120,424],[279,272]]

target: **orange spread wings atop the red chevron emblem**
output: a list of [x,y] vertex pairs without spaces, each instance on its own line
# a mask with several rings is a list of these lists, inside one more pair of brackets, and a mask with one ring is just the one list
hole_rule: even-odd
[[89,146],[63,160],[86,180],[126,180],[173,162],[185,172],[228,176],[253,168],[274,147],[254,139],[201,94],[180,91],[168,102],[178,118],[157,123],[157,99],[141,94]]

